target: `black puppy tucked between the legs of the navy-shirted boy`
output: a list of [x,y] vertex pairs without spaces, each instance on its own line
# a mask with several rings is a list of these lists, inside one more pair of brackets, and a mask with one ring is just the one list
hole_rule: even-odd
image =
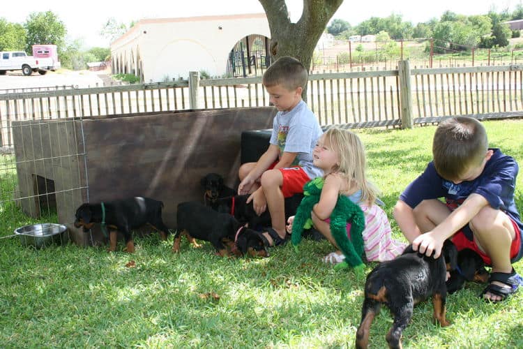
[[465,281],[486,283],[488,279],[489,273],[485,269],[483,258],[470,248],[464,248],[457,253],[457,267],[450,272],[450,278],[446,282],[447,292],[461,290]]

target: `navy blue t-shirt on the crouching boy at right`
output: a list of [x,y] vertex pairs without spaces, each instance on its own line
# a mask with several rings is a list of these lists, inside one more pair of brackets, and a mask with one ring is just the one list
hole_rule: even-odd
[[400,200],[411,208],[423,200],[437,198],[445,198],[449,204],[460,205],[469,195],[476,193],[483,196],[492,208],[505,212],[523,231],[523,223],[514,202],[519,166],[512,156],[503,154],[499,149],[492,150],[494,153],[479,177],[460,184],[440,177],[434,168],[434,162],[431,161],[425,172],[403,191]]

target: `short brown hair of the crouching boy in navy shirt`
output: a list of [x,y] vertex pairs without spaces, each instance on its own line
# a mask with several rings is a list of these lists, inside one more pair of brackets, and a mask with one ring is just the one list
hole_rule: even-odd
[[444,179],[459,179],[471,166],[481,165],[487,150],[487,131],[473,117],[447,119],[434,133],[434,167]]

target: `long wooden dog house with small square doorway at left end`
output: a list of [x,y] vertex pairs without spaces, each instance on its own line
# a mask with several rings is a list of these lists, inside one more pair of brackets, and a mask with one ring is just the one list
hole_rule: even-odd
[[164,203],[163,220],[174,228],[179,202],[203,201],[205,174],[237,184],[242,132],[271,128],[275,112],[255,107],[13,121],[22,209],[37,217],[43,202],[54,202],[59,223],[82,246],[103,239],[100,231],[74,228],[83,202],[148,196]]

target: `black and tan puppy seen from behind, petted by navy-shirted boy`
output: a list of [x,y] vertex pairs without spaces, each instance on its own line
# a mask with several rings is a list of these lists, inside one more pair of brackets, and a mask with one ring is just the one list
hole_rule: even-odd
[[441,327],[450,325],[445,318],[445,281],[447,271],[455,269],[456,264],[456,246],[446,240],[439,258],[422,255],[409,245],[402,255],[372,269],[365,282],[356,348],[367,348],[370,325],[381,304],[386,304],[394,316],[393,326],[386,335],[390,348],[402,348],[402,331],[409,325],[414,305],[428,297],[432,296],[434,319]]

